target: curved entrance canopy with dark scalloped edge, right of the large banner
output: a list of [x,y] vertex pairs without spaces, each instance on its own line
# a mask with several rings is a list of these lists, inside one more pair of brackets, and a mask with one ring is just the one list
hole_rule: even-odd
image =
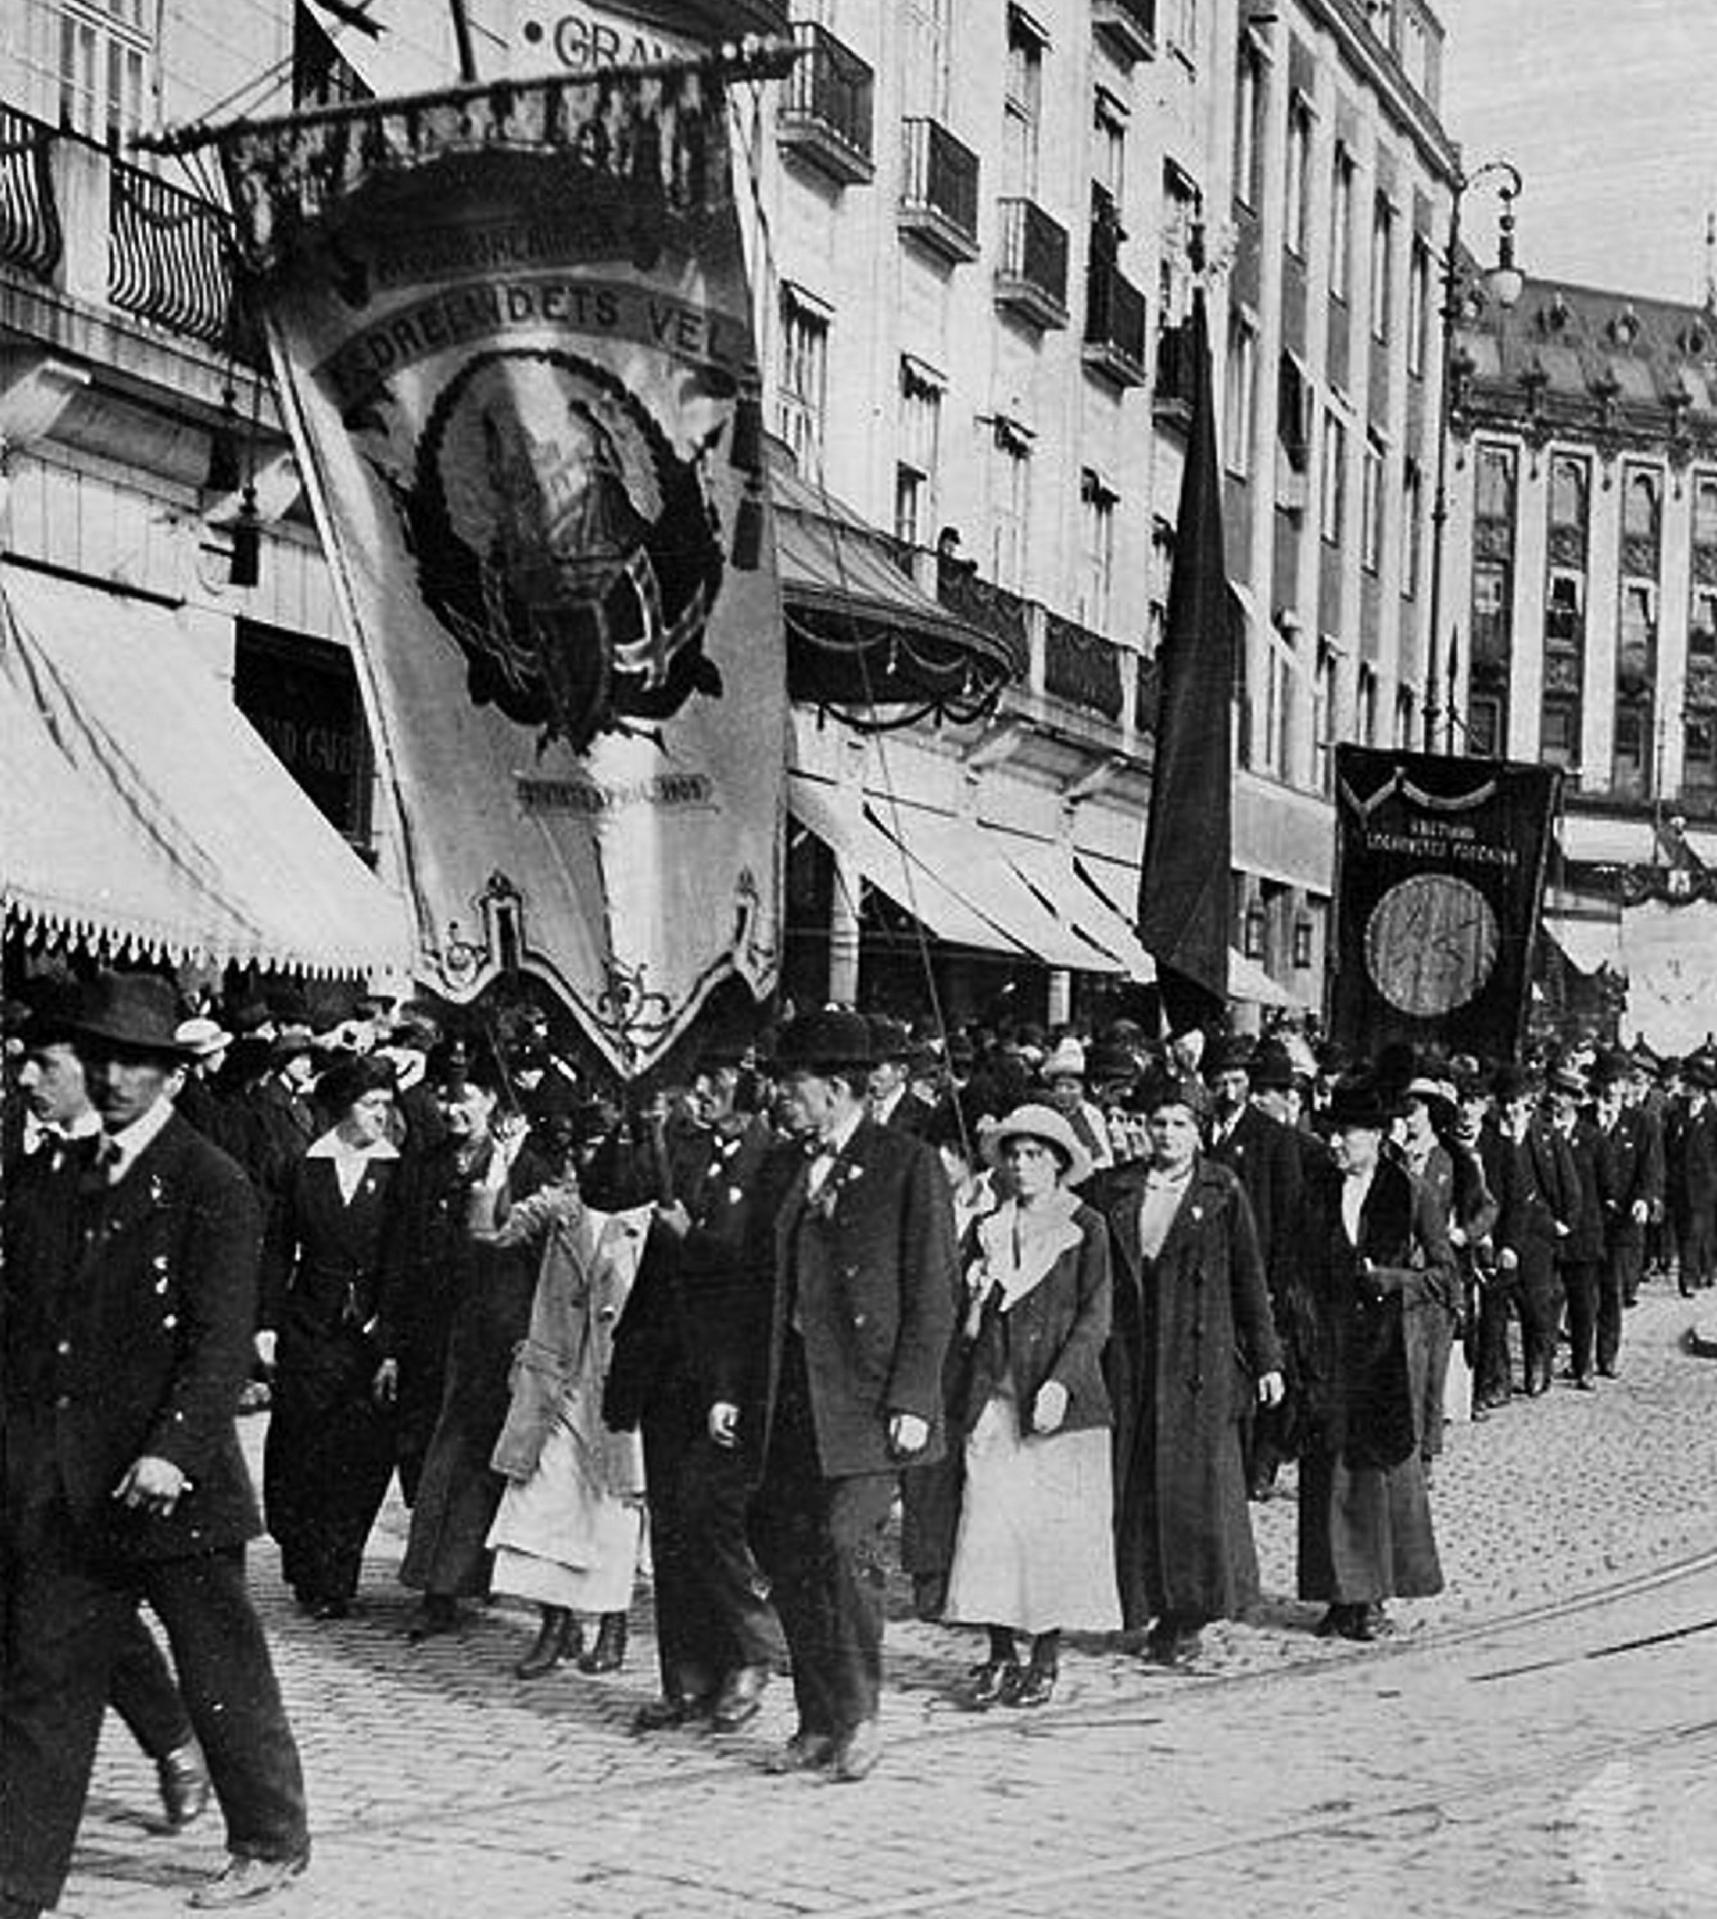
[[790,461],[771,462],[775,564],[796,700],[831,706],[980,700],[1028,668],[1024,626],[980,624],[932,599],[894,541]]

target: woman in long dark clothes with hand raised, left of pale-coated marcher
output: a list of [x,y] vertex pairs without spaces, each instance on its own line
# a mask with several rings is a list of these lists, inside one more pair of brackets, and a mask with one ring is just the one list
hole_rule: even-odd
[[459,1600],[489,1591],[487,1537],[503,1491],[489,1458],[537,1290],[535,1249],[472,1238],[474,1199],[485,1215],[505,1211],[547,1178],[524,1123],[497,1123],[505,1077],[493,1055],[455,1046],[434,1080],[447,1138],[420,1157],[405,1186],[382,1315],[401,1387],[405,1364],[434,1366],[437,1328],[447,1328],[441,1399],[399,1568],[401,1583],[424,1595],[414,1639],[453,1631]]

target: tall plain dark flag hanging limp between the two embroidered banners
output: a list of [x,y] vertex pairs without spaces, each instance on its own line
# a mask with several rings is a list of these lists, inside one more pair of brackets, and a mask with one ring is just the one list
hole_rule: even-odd
[[1193,415],[1159,652],[1157,766],[1140,869],[1140,942],[1157,961],[1172,1032],[1212,1027],[1228,1000],[1237,606],[1222,555],[1222,480],[1205,294],[1182,326]]

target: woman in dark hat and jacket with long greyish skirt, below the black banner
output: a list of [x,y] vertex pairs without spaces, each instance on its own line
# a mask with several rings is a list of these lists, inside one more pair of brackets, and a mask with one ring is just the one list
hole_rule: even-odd
[[1331,1165],[1306,1194],[1299,1282],[1314,1328],[1299,1593],[1328,1602],[1320,1633],[1376,1639],[1385,1599],[1443,1591],[1404,1315],[1452,1303],[1456,1267],[1433,1192],[1379,1153],[1377,1088],[1339,1084],[1328,1117]]

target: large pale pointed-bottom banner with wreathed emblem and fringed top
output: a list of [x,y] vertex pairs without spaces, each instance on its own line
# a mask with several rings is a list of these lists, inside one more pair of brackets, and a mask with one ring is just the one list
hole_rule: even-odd
[[635,1077],[779,954],[787,681],[714,63],[232,127],[426,981]]

